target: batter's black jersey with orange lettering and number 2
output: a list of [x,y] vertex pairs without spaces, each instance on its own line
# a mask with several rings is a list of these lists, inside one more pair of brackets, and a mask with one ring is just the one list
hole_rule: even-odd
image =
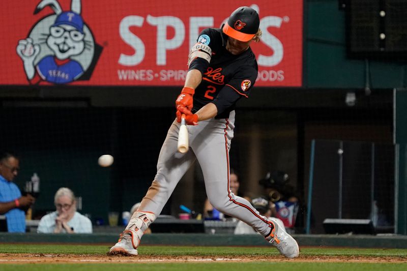
[[226,41],[220,28],[206,28],[199,35],[197,42],[212,49],[212,58],[208,63],[197,57],[189,65],[189,70],[202,73],[193,96],[193,113],[212,102],[218,109],[215,118],[227,118],[240,98],[249,97],[258,71],[255,55],[250,47],[238,55],[231,54],[226,50]]

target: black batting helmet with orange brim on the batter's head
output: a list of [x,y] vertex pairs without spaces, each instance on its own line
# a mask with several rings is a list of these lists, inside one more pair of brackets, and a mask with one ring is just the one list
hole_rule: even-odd
[[257,11],[249,7],[240,7],[230,15],[222,31],[238,41],[247,42],[257,34],[260,19]]

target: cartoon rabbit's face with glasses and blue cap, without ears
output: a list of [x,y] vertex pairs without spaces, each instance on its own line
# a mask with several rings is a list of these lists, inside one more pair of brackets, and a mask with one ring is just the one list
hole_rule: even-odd
[[57,16],[49,29],[48,47],[58,59],[79,55],[85,48],[83,20],[74,12],[63,12]]

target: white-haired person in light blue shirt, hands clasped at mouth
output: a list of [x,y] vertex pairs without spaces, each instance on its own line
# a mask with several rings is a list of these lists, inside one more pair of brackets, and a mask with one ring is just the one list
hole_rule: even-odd
[[89,218],[76,212],[75,195],[69,188],[60,188],[55,193],[56,211],[41,218],[38,233],[92,233]]

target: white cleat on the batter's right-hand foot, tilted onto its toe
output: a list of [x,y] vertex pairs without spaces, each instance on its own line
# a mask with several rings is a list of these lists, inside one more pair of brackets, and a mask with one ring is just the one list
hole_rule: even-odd
[[271,231],[270,236],[266,238],[269,240],[269,243],[276,247],[281,255],[287,258],[298,257],[300,249],[297,241],[285,231],[283,225],[279,225],[276,219],[271,218],[270,222],[273,223],[274,229]]

